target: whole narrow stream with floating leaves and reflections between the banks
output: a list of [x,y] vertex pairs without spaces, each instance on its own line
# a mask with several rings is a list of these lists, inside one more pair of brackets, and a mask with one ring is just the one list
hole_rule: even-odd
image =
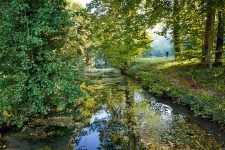
[[60,134],[39,140],[12,131],[4,135],[4,149],[224,149],[225,133],[185,106],[156,99],[122,75],[103,73],[91,79],[83,87],[89,96],[78,100],[69,114],[74,126],[54,128]]

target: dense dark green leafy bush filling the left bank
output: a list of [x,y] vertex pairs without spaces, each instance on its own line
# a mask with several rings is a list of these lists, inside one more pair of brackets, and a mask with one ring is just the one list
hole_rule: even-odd
[[80,63],[65,55],[65,1],[10,0],[0,7],[0,123],[21,127],[81,95]]

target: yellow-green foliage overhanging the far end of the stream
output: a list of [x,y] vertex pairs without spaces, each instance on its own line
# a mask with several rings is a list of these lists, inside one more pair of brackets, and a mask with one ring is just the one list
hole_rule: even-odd
[[150,47],[143,16],[138,13],[139,2],[95,0],[89,5],[94,15],[92,34],[98,39],[95,46],[114,66],[122,65]]

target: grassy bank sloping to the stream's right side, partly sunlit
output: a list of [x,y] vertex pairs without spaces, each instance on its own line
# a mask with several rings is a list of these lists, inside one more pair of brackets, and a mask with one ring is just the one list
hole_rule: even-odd
[[225,124],[225,67],[203,69],[193,61],[139,58],[127,73],[139,78],[151,93],[188,104],[203,117]]

